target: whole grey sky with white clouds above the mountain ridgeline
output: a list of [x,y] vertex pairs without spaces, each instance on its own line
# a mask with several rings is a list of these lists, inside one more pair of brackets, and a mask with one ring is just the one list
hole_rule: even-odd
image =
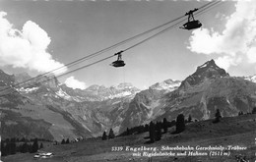
[[[208,1],[0,0],[0,69],[32,77],[63,67],[64,73],[126,49],[133,40],[74,67],[66,64],[158,27]],[[256,74],[256,2],[225,1],[196,16],[201,28],[173,27],[117,58],[59,78],[73,88],[131,82],[138,88],[168,79],[183,81],[214,59],[230,76]],[[173,24],[171,24],[173,25]],[[156,32],[155,32],[156,33]],[[153,33],[152,33],[153,34]],[[55,75],[58,75],[57,73]]]

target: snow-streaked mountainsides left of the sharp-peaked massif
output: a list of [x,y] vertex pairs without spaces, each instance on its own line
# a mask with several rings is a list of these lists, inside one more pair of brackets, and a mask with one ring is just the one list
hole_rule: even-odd
[[[23,81],[27,82],[17,84]],[[8,75],[3,71],[0,82],[2,138],[62,140],[101,135],[113,126],[115,117],[110,112],[114,106],[119,108],[139,91],[131,83],[72,89],[54,76],[32,80],[26,73]],[[115,123],[118,128],[118,121]]]

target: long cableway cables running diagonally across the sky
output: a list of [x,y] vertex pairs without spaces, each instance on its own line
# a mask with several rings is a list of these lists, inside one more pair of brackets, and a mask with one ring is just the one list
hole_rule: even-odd
[[[200,9],[202,9],[202,10],[199,11],[199,12],[197,12],[197,13],[195,13],[195,15],[201,15],[201,14],[207,12],[206,10],[212,8],[213,6],[216,6],[216,5],[220,4],[219,2],[220,2],[220,1],[217,1],[217,2],[215,2],[215,3],[211,2],[211,3],[208,3],[208,4],[206,4],[206,5],[202,6],[202,7],[200,7]],[[212,3],[213,3],[213,4],[212,4]],[[208,6],[208,7],[207,7],[207,6]],[[201,13],[201,14],[200,14],[200,13]],[[184,17],[184,16],[179,17],[179,18],[174,19],[174,20],[172,20],[172,21],[170,21],[170,22],[173,23],[173,22],[175,22],[175,21],[177,21],[177,20],[179,20],[179,19],[181,19],[181,18],[183,18],[183,17]],[[164,33],[164,32],[166,32],[167,30],[171,29],[172,27],[177,27],[178,25],[180,25],[182,22],[184,22],[184,21],[186,21],[186,20],[187,20],[187,19],[183,19],[182,21],[179,21],[178,23],[176,23],[176,24],[174,24],[174,25],[172,25],[172,26],[170,26],[170,27],[166,27],[166,28],[160,30],[159,32],[153,34],[152,36],[150,36],[150,37],[148,37],[148,38],[146,38],[146,39],[143,39],[142,41],[140,41],[140,42],[138,42],[138,43],[136,43],[136,44],[134,44],[134,45],[132,45],[132,46],[130,46],[130,47],[124,49],[123,51],[130,50],[130,49],[132,49],[132,48],[134,48],[134,47],[136,47],[136,46],[138,46],[138,45],[140,45],[140,44],[142,44],[142,43],[144,43],[144,42],[146,42],[146,41],[148,41],[148,40],[150,40],[150,39],[152,39],[152,38],[154,38],[154,37],[156,37],[156,36],[158,36],[158,35],[160,35],[160,34],[162,34],[162,33]],[[112,48],[113,46],[116,46],[117,44],[119,45],[120,43],[124,43],[124,42],[126,42],[126,41],[128,41],[128,40],[130,40],[130,39],[133,39],[133,38],[135,38],[135,37],[139,37],[139,35],[142,35],[142,34],[144,34],[144,33],[148,33],[148,32],[150,32],[150,31],[156,30],[157,28],[160,28],[160,27],[164,27],[164,26],[166,26],[167,24],[170,24],[170,22],[165,23],[165,24],[163,24],[163,25],[161,25],[161,26],[159,26],[159,27],[154,27],[154,28],[152,28],[152,29],[150,29],[150,30],[147,30],[147,31],[142,32],[142,33],[140,33],[140,34],[137,34],[137,35],[135,35],[135,36],[132,36],[132,37],[130,37],[130,38],[124,40],[124,41],[121,41],[121,42],[119,42],[119,43],[116,43],[115,45],[112,45],[112,46],[110,46],[110,47],[104,48],[103,50],[100,50],[100,51],[98,51],[98,52],[96,52],[96,53],[94,53],[94,54],[91,54],[91,55],[89,55],[89,56],[86,56],[86,57],[84,57],[84,58],[81,58],[81,59],[79,59],[79,60],[76,60],[76,61],[71,62],[71,63],[69,63],[69,64],[66,64],[66,66],[70,66],[70,65],[72,65],[72,64],[75,64],[75,63],[78,63],[78,62],[82,62],[82,60],[84,60],[84,59],[86,59],[86,58],[94,57],[95,55],[97,56],[98,54],[100,54],[100,53],[103,52],[104,50],[110,50],[110,48]],[[54,79],[55,77],[56,77],[56,78],[60,78],[60,77],[66,76],[66,75],[68,75],[68,74],[70,74],[70,73],[74,73],[74,72],[76,72],[76,71],[79,71],[79,70],[81,70],[81,69],[88,68],[88,67],[93,66],[93,65],[95,65],[95,64],[97,64],[97,63],[99,63],[99,62],[102,62],[102,61],[105,61],[105,60],[107,60],[107,59],[110,59],[110,58],[112,58],[112,57],[114,57],[114,56],[115,56],[115,55],[111,55],[111,56],[105,57],[105,58],[100,59],[100,60],[98,60],[98,61],[96,61],[96,62],[94,62],[94,63],[88,64],[88,65],[82,66],[82,67],[80,67],[80,68],[77,68],[77,69],[75,69],[75,70],[68,71],[68,72],[65,72],[65,73],[63,73],[63,74],[60,74],[60,75],[58,75],[58,76],[54,76],[54,77],[52,77],[52,78],[49,78],[49,80],[52,80],[52,79]],[[63,67],[64,67],[64,66],[63,66]],[[54,72],[54,71],[56,71],[56,70],[59,70],[59,69],[61,69],[61,67],[60,67],[60,68],[57,68],[57,69],[55,69],[55,70],[52,70],[52,71],[50,71],[50,72],[47,72],[47,73],[45,73],[45,74],[43,74],[43,75],[39,75],[39,77],[43,77],[43,76],[45,76],[45,75],[47,75],[47,74],[50,74],[50,73],[52,73],[52,72]],[[35,78],[32,78],[32,79],[30,79],[30,80],[28,80],[28,81],[32,81],[32,80],[35,80],[35,79],[37,79],[37,78],[38,78],[38,77],[35,77]],[[49,80],[44,80],[44,81],[49,81]],[[13,85],[12,87],[15,87],[15,86],[17,86],[17,85],[20,85],[21,83],[25,83],[25,82],[28,82],[28,81],[18,82],[17,84]],[[43,81],[39,81],[39,82],[43,82]],[[11,88],[11,87],[9,86],[8,88]],[[8,88],[6,88],[6,89],[8,89]],[[0,92],[4,91],[4,90],[6,90],[6,89],[1,89]]]

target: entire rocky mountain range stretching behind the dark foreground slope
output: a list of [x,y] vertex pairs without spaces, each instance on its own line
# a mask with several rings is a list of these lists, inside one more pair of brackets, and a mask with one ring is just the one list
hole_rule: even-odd
[[14,136],[13,130],[15,137],[57,140],[97,136],[110,128],[121,133],[163,117],[174,120],[180,113],[206,120],[214,117],[216,109],[223,116],[234,116],[239,111],[250,112],[256,104],[255,77],[229,77],[214,60],[199,66],[184,81],[160,81],[142,91],[126,82],[73,89],[54,76],[14,87],[27,79],[31,79],[28,74],[0,71],[0,89],[10,87],[0,97],[3,136]]

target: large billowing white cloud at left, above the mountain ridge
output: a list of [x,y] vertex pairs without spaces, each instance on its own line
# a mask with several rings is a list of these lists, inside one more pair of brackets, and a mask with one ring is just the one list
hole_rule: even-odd
[[[64,66],[47,52],[51,39],[45,30],[32,21],[19,30],[5,18],[6,15],[0,12],[0,66],[9,65],[37,72],[48,72]],[[66,67],[55,74],[65,71]]]

